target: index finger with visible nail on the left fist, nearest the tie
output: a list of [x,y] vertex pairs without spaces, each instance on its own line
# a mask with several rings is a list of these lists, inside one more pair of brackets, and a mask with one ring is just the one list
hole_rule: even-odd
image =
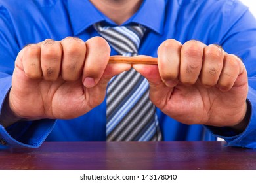
[[87,53],[83,67],[83,85],[92,88],[98,83],[106,69],[110,58],[110,46],[102,37],[93,37],[85,44]]

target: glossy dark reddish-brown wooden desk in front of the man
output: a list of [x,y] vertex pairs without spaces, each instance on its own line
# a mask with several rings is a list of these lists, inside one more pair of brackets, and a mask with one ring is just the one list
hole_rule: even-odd
[[256,169],[256,150],[224,142],[45,142],[0,150],[0,169]]

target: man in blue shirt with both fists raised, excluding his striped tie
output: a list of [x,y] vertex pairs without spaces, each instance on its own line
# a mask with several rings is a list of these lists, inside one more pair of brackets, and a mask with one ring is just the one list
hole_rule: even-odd
[[[2,144],[106,140],[108,82],[133,67],[150,84],[163,141],[212,133],[256,147],[256,22],[239,1],[0,4]],[[146,27],[139,54],[158,65],[108,64],[117,52],[98,37],[98,22]]]

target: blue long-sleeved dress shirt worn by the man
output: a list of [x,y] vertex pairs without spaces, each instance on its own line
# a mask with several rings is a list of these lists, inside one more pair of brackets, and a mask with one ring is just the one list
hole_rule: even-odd
[[[98,35],[92,25],[100,21],[116,25],[88,0],[0,0],[0,107],[11,88],[14,61],[24,46],[68,36],[87,41]],[[256,21],[248,8],[236,0],[144,0],[123,25],[133,23],[148,29],[139,54],[157,57],[158,46],[166,39],[182,43],[196,39],[220,44],[226,52],[240,56],[247,67],[251,118],[243,133],[226,127],[184,125],[157,109],[163,140],[222,137],[230,146],[256,148]],[[117,52],[112,49],[111,54]],[[18,122],[7,129],[0,125],[0,139],[9,146],[38,147],[43,141],[105,141],[105,131],[106,100],[72,120]]]

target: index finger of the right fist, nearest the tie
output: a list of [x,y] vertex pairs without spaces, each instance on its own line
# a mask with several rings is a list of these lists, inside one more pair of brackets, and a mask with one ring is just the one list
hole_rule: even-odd
[[166,86],[173,87],[178,83],[181,46],[181,42],[169,39],[158,48],[158,68]]

